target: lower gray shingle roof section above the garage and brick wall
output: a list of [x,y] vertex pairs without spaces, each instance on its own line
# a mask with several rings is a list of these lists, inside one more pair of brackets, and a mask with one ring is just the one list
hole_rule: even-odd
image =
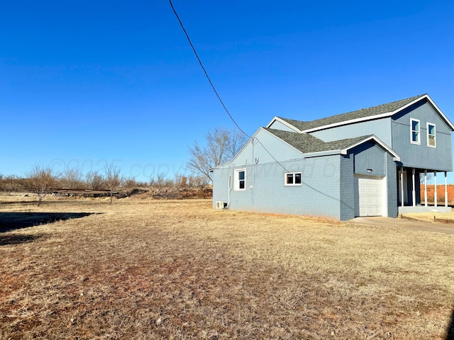
[[331,150],[340,150],[350,147],[361,140],[365,140],[365,138],[370,137],[361,136],[361,137],[354,137],[354,138],[346,138],[345,140],[333,140],[332,142],[323,142],[323,140],[309,135],[308,133],[297,133],[297,132],[289,132],[289,131],[282,131],[282,130],[275,130],[270,128],[264,128],[268,132],[272,133],[276,137],[280,138],[287,144],[292,145],[295,149],[303,152],[304,154],[309,154],[311,152],[323,152],[323,151],[331,151]]

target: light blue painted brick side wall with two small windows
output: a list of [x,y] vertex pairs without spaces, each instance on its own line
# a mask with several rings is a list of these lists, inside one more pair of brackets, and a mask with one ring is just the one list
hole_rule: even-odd
[[[341,167],[345,171],[345,186],[349,186],[343,191],[343,197]],[[214,207],[217,200],[228,201],[228,176],[235,169],[245,169],[246,190],[231,190],[230,208],[233,210],[319,215],[337,220],[354,217],[351,217],[353,159],[332,155],[297,159],[280,165],[259,163],[214,169]],[[284,174],[287,172],[301,172],[301,186],[284,186]]]

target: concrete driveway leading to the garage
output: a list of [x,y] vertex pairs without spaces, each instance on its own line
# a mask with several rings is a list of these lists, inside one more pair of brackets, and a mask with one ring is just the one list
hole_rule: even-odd
[[442,232],[443,234],[454,234],[454,224],[413,221],[391,217],[355,217],[353,220],[350,220],[350,222],[359,223],[361,225],[376,225],[379,227],[392,227],[420,230],[423,232]]

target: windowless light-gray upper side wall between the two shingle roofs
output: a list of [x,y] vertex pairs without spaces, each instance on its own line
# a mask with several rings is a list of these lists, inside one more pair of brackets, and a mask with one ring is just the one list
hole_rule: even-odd
[[390,118],[381,118],[368,120],[367,122],[338,126],[336,128],[310,132],[310,134],[320,138],[323,142],[343,140],[344,138],[360,137],[364,135],[375,135],[384,142],[384,144],[389,147],[392,146]]

